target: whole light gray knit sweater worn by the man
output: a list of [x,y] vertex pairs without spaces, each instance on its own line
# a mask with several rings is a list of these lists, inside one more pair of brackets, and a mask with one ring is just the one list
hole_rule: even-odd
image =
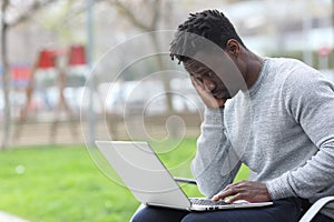
[[[273,200],[334,195],[334,85],[301,61],[266,58],[249,90],[205,110],[191,171],[212,196],[242,163]],[[323,213],[334,219],[333,205]]]

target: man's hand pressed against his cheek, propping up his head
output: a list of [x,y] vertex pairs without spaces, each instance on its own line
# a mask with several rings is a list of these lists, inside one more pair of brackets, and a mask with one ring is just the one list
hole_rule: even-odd
[[212,95],[212,93],[205,90],[204,85],[197,82],[197,80],[194,77],[190,77],[190,80],[194,88],[196,89],[197,93],[199,94],[200,99],[207,108],[217,109],[224,107],[226,102],[225,99],[217,99],[214,95]]

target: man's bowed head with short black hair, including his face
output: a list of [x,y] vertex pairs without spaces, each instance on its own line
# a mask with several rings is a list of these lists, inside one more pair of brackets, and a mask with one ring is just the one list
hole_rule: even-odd
[[240,78],[235,81],[236,75],[242,77],[240,50],[247,49],[229,20],[217,10],[205,10],[191,13],[178,27],[170,57],[183,62],[215,98],[229,99],[242,88],[239,81],[244,83]]

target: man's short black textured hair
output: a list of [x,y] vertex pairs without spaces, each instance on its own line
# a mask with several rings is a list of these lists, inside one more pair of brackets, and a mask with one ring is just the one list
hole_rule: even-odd
[[223,50],[226,49],[228,40],[235,39],[246,49],[234,26],[223,12],[205,10],[190,13],[188,19],[179,24],[170,43],[171,60],[176,58],[179,63],[185,62],[196,52],[205,50],[207,46],[204,39]]

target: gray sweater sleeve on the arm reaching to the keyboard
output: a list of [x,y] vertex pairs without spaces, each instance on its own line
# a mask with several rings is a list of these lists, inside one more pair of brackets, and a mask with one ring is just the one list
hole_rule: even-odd
[[286,82],[285,107],[318,150],[304,165],[267,182],[274,200],[312,198],[334,182],[334,85],[318,73],[292,75]]

